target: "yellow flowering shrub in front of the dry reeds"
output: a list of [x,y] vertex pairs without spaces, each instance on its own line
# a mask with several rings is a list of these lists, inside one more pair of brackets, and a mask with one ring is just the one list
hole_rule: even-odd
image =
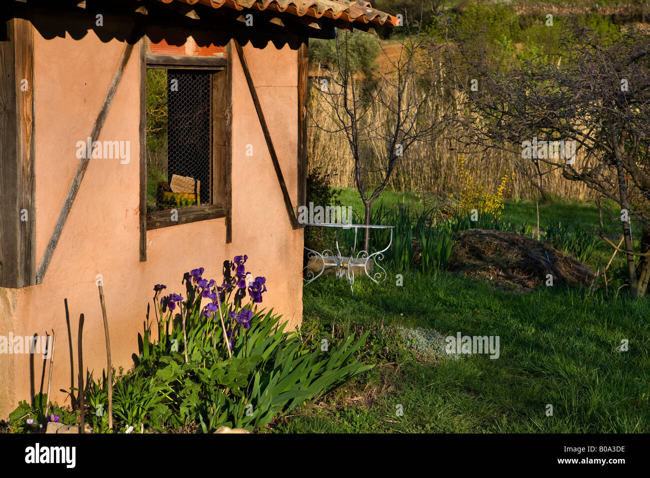
[[510,189],[506,191],[506,187],[508,181],[514,179],[514,173],[508,174],[506,169],[506,172],[500,178],[496,194],[486,191],[482,179],[478,179],[477,176],[465,163],[465,153],[460,155],[456,161],[456,177],[460,185],[458,213],[467,215],[471,213],[472,209],[476,209],[479,214],[487,214],[499,219],[504,207],[504,194],[510,193]]

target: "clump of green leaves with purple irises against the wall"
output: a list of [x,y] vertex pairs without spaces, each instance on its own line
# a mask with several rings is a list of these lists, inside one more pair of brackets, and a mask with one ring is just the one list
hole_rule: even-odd
[[[246,271],[248,256],[224,263],[224,280],[183,278],[185,297],[154,287],[154,323],[138,334],[135,368],[115,380],[114,429],[162,431],[222,425],[252,431],[304,401],[341,386],[374,365],[359,360],[367,334],[332,347],[285,331],[281,315],[260,309],[266,279]],[[107,380],[90,380],[87,421],[106,429]]]

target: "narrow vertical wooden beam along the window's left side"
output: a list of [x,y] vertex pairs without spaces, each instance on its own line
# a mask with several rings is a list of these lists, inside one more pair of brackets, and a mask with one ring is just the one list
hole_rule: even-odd
[[[146,30],[146,25],[144,27]],[[140,42],[140,262],[147,260],[147,36]]]

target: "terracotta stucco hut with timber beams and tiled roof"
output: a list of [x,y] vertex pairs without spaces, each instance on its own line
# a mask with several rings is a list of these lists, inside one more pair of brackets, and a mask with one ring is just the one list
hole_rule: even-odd
[[[153,285],[218,278],[238,254],[299,323],[308,38],[397,18],[346,0],[6,1],[0,16],[0,336],[57,332],[51,399],[77,386],[81,313],[84,365],[105,367],[98,280],[114,367],[132,364]],[[0,353],[2,417],[44,391],[29,352]]]

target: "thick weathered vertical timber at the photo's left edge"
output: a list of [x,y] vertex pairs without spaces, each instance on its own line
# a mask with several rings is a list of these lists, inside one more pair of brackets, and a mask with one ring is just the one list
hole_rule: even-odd
[[[2,25],[4,27],[5,25]],[[0,42],[0,286],[36,284],[34,258],[34,36],[6,21]]]

